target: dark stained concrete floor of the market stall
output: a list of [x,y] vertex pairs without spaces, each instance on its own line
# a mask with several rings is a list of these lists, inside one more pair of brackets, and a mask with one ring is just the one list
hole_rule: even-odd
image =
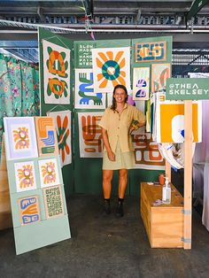
[[0,231],[0,277],[209,277],[209,233],[199,214],[193,212],[191,251],[151,249],[138,203],[126,197],[117,219],[102,215],[101,197],[72,196],[72,238],[19,256],[12,228]]

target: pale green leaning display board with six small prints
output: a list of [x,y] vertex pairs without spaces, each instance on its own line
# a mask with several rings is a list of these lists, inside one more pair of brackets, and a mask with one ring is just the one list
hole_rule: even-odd
[[4,118],[4,130],[17,255],[70,238],[53,119]]

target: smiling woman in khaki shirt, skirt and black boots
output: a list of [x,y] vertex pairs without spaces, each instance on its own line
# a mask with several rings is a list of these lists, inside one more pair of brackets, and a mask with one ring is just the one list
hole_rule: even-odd
[[127,104],[128,91],[117,85],[113,90],[112,106],[104,111],[99,126],[104,141],[103,193],[104,213],[110,214],[113,170],[119,170],[119,199],[116,216],[123,216],[123,199],[128,183],[128,169],[135,164],[131,133],[145,125],[145,116],[135,106]]

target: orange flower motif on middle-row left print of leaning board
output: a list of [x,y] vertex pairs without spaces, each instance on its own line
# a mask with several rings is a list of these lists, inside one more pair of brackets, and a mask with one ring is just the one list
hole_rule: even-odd
[[32,165],[25,165],[18,169],[19,187],[20,189],[30,188],[34,186],[34,173]]

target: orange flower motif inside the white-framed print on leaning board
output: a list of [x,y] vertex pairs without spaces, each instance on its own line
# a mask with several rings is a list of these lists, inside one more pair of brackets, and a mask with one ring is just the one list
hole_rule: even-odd
[[13,140],[15,143],[15,150],[28,149],[30,144],[28,128],[18,127],[18,130],[13,130]]

